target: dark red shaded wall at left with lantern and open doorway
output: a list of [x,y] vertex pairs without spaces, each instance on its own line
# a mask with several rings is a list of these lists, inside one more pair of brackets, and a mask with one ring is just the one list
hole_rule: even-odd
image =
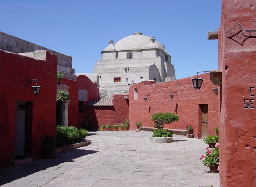
[[[56,72],[57,56],[49,51],[43,61],[0,50],[0,168],[14,163],[16,101],[32,102],[29,156],[43,156],[44,139],[56,133]],[[35,83],[25,86],[25,79],[38,79],[39,95],[32,91]]]

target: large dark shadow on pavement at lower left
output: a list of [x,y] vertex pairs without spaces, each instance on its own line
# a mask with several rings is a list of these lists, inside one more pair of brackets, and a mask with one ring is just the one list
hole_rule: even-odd
[[94,154],[98,151],[72,149],[61,154],[54,155],[51,159],[38,159],[27,164],[12,166],[0,170],[0,186],[10,183],[19,178],[31,175],[38,171],[57,166],[64,162],[76,162],[73,159],[78,157]]

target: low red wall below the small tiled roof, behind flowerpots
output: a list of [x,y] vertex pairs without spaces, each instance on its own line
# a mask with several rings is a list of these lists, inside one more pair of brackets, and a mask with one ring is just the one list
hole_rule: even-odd
[[113,95],[113,106],[85,106],[85,121],[92,124],[95,130],[100,125],[124,123],[129,113],[129,99],[125,99],[126,96],[128,95]]

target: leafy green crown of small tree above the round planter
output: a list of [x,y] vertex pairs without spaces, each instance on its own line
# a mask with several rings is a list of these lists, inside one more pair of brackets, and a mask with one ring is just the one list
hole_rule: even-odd
[[155,122],[155,125],[157,129],[163,128],[164,124],[170,124],[174,121],[179,120],[179,116],[170,113],[170,112],[165,112],[165,113],[155,113],[152,115],[151,119]]

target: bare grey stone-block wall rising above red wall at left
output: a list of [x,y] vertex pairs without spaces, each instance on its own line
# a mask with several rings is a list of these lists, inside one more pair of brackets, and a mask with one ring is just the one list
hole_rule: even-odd
[[36,50],[48,50],[51,54],[56,54],[58,56],[58,71],[63,72],[66,78],[76,80],[76,76],[74,75],[75,69],[72,68],[71,56],[58,53],[4,32],[0,32],[0,49],[12,53],[28,53]]

